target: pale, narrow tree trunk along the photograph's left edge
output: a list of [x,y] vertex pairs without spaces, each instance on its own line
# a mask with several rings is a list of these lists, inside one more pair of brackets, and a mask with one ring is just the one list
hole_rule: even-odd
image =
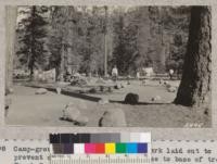
[[16,7],[7,7],[5,89],[13,87],[13,56],[15,53]]

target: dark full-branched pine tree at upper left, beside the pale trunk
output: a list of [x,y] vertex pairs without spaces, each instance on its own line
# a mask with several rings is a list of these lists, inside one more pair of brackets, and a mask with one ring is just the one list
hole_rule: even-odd
[[21,20],[17,33],[20,33],[18,43],[21,45],[17,54],[22,54],[21,60],[27,63],[33,79],[34,70],[46,67],[46,25],[48,22],[43,16],[48,12],[46,7],[26,7],[20,14],[26,16]]

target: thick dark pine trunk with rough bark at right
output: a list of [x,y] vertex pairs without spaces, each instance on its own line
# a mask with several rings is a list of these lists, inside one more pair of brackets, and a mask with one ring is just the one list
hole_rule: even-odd
[[176,104],[206,106],[210,104],[212,17],[209,7],[192,7],[188,50]]

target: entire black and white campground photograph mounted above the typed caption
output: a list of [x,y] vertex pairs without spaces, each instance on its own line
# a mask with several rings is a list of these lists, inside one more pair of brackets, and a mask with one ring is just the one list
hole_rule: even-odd
[[5,125],[212,127],[208,5],[8,5],[5,39]]

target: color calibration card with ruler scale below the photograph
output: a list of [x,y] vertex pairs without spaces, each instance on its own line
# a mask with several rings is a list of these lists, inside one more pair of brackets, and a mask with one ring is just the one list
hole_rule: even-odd
[[146,164],[151,134],[52,134],[50,151],[51,164]]

